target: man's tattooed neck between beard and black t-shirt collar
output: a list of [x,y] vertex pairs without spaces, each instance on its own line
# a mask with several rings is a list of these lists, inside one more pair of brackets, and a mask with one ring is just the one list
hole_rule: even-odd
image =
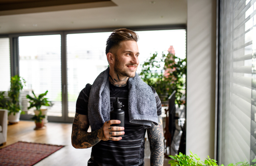
[[115,72],[109,72],[108,80],[113,86],[124,87],[127,85],[129,77],[116,74]]

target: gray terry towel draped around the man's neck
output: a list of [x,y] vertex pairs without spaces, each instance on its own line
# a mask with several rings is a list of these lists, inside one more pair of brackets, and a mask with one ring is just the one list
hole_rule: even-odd
[[[109,96],[109,67],[99,74],[93,82],[89,102],[88,119],[92,131],[100,129],[110,120],[110,96]],[[144,128],[150,128],[151,123],[158,124],[157,104],[150,86],[140,79],[138,74],[128,79],[129,97],[128,112],[131,123],[142,124]]]

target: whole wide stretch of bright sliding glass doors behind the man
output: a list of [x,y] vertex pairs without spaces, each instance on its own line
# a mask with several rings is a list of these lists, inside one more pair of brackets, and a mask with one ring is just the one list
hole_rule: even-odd
[[[158,52],[186,57],[186,30],[137,31],[140,64]],[[96,77],[108,68],[105,54],[106,40],[111,32],[95,33],[48,33],[29,36],[14,36],[18,39],[18,72],[26,80],[21,93],[22,110],[29,120],[34,108],[29,106],[26,95],[48,91],[47,98],[54,104],[48,107],[48,120],[72,122],[76,112],[76,100],[87,83],[93,84]],[[17,38],[18,37],[18,38]],[[12,40],[13,38],[10,37]],[[10,41],[12,41],[10,40]],[[7,42],[7,40],[5,41]],[[14,42],[14,41],[12,41]],[[13,45],[15,45],[13,43]],[[12,45],[11,45],[12,46]],[[11,47],[11,50],[14,46]],[[175,51],[174,51],[175,49]],[[7,64],[7,63],[6,63]],[[137,73],[142,66],[138,66]],[[42,108],[45,109],[46,107]]]

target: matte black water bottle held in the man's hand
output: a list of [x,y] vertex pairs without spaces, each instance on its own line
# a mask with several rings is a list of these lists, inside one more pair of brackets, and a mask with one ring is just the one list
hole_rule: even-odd
[[[121,109],[122,103],[118,101],[118,97],[116,97],[116,101],[113,102],[113,110],[110,112],[110,120],[120,120],[119,124],[112,124],[111,126],[125,127],[125,112]],[[116,132],[116,131],[113,131]],[[123,132],[119,131],[119,132]],[[113,137],[123,137],[124,135],[116,135]]]

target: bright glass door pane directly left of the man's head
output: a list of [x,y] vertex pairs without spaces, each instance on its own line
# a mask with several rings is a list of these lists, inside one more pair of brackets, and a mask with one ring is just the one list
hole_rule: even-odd
[[108,67],[106,40],[111,32],[67,34],[68,116],[74,117],[76,100],[87,83]]

